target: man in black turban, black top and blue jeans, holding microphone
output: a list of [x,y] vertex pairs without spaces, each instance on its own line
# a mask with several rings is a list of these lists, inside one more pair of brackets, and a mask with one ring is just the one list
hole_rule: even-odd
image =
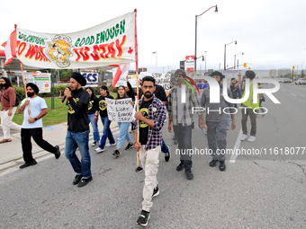
[[[93,181],[88,147],[90,131],[88,122],[89,94],[82,88],[85,84],[86,80],[83,75],[72,73],[70,78],[71,91],[66,88],[64,92],[67,96],[68,106],[65,154],[76,172],[73,184],[77,184],[79,188]],[[76,155],[77,147],[82,157],[81,162]]]

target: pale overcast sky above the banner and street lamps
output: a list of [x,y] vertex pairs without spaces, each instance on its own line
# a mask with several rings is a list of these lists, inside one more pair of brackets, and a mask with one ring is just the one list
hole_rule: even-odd
[[[138,11],[139,67],[149,72],[175,70],[185,56],[194,55],[195,15],[198,18],[197,56],[206,53],[206,68],[218,70],[226,63],[247,63],[251,69],[306,65],[306,1],[4,1],[0,0],[0,43],[14,24],[29,31],[68,33],[82,31],[124,13]],[[152,52],[157,51],[156,54]],[[157,57],[157,58],[156,58]],[[135,65],[131,65],[131,68]],[[197,61],[204,70],[205,61]],[[242,66],[241,66],[242,67]]]

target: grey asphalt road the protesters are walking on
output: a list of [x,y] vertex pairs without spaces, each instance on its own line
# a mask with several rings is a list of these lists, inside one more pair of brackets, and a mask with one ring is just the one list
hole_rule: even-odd
[[[306,87],[282,84],[275,97],[281,104],[267,98],[263,103],[268,112],[257,117],[254,143],[237,140],[238,112],[228,148],[291,147],[297,153],[296,147],[306,146]],[[206,137],[195,126],[193,147],[205,149]],[[194,155],[194,180],[187,181],[184,172],[175,171],[177,145],[166,127],[164,138],[172,157],[166,163],[159,155],[160,195],[153,199],[148,228],[306,228],[306,150],[237,155],[231,163],[228,155],[225,172],[209,166],[210,155]],[[144,173],[134,172],[135,150],[121,150],[119,158],[113,150],[90,149],[94,181],[81,189],[72,185],[75,173],[64,154],[0,176],[0,228],[141,228],[136,220]]]

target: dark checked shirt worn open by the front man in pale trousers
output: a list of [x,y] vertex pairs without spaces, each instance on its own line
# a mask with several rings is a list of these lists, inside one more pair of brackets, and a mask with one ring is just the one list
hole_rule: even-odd
[[[142,100],[143,99],[139,100],[139,104],[141,104]],[[148,119],[154,120],[154,128],[148,126],[148,142],[145,146],[145,150],[154,149],[162,144],[162,128],[166,119],[166,105],[164,102],[158,100],[156,96],[153,97],[152,103],[148,106]],[[134,128],[138,128],[138,125],[139,120],[136,119]]]

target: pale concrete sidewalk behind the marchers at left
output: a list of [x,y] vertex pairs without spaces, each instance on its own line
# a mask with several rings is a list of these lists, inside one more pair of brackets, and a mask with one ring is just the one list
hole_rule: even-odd
[[[101,138],[103,133],[103,124],[100,119],[98,121],[98,124],[99,124],[100,138]],[[91,124],[89,124],[89,127],[90,127],[89,146],[90,146],[94,141],[93,139],[94,137],[93,137],[93,129]],[[118,124],[112,121],[111,129],[112,133],[119,131]],[[0,126],[0,132],[2,134],[1,126]],[[66,134],[67,134],[67,122],[50,127],[45,127],[43,128],[42,132],[43,139],[48,141],[49,144],[59,146],[60,153],[62,154],[62,156],[65,150]],[[1,135],[0,139],[2,138],[3,136]],[[24,163],[20,132],[12,131],[11,138],[12,142],[0,144],[0,173],[14,167],[19,167]],[[40,146],[36,145],[33,139],[31,139],[31,143],[32,143],[32,154],[36,160],[47,156],[54,157],[53,154],[44,151],[43,149],[40,148]]]

